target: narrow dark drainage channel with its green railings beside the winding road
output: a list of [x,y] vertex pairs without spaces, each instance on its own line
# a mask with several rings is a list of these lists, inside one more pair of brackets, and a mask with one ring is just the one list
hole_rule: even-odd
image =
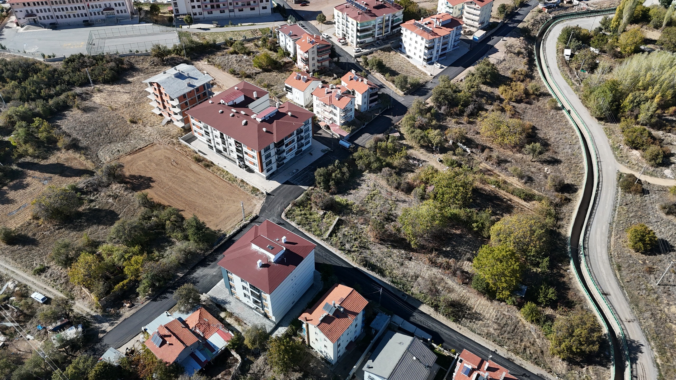
[[[601,185],[596,145],[594,145],[592,134],[583,119],[577,114],[575,108],[573,108],[556,82],[550,77],[551,73],[546,57],[541,55],[542,42],[546,38],[548,32],[550,32],[550,28],[557,22],[569,20],[571,18],[588,18],[604,14],[614,14],[614,11],[615,9],[612,8],[553,16],[552,19],[548,20],[548,22],[540,28],[537,34],[535,41],[535,62],[537,64],[537,70],[542,80],[545,82],[545,85],[550,93],[552,93],[554,99],[562,105],[564,114],[566,114],[566,117],[570,120],[571,124],[575,126],[578,138],[583,147],[585,157],[585,183],[583,195],[577,204],[577,212],[575,213],[569,233],[569,257],[571,258],[571,266],[574,268],[573,272],[575,273],[575,278],[583,289],[587,300],[592,304],[594,311],[601,320],[604,328],[608,332],[610,356],[612,360],[610,378],[613,380],[623,380],[632,379],[627,339],[625,338],[625,333],[620,321],[594,281],[585,257],[584,237],[587,235],[587,227],[589,227],[589,221],[594,212],[594,204],[596,203],[598,196],[598,189],[600,189]],[[553,64],[556,65],[556,62]],[[592,156],[594,159],[592,159]]]

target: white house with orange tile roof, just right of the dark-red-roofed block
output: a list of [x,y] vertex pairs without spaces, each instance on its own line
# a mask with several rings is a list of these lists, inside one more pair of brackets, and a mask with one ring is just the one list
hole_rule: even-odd
[[312,308],[300,314],[308,346],[335,364],[364,331],[368,301],[351,287],[335,284]]

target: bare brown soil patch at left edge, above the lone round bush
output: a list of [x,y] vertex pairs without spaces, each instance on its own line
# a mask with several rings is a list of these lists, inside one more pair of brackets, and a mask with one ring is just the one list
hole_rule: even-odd
[[30,202],[47,186],[62,187],[93,174],[94,165],[73,151],[59,151],[46,160],[22,161],[20,178],[0,189],[0,226],[18,227],[30,218]]

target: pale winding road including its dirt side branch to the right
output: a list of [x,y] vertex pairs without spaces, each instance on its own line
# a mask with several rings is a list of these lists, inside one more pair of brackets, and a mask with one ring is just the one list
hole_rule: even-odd
[[[614,269],[610,262],[608,252],[608,234],[612,214],[614,211],[614,200],[616,199],[617,172],[631,172],[625,166],[619,164],[612,153],[612,147],[604,133],[602,126],[592,117],[573,89],[562,76],[558,65],[556,64],[556,39],[561,33],[562,28],[569,25],[579,25],[582,28],[592,28],[597,25],[601,16],[589,18],[575,18],[564,20],[554,24],[546,34],[541,43],[540,62],[546,66],[546,76],[544,80],[549,81],[555,89],[559,99],[565,99],[564,107],[571,107],[571,117],[575,120],[586,139],[585,146],[594,147],[596,151],[596,160],[594,160],[594,169],[598,183],[596,186],[596,197],[592,199],[592,211],[587,224],[588,235],[582,236],[579,241],[586,254],[581,256],[581,260],[587,260],[594,281],[600,292],[590,292],[596,298],[596,302],[608,319],[612,314],[619,320],[619,325],[612,324],[612,328],[617,335],[624,334],[629,350],[629,360],[631,362],[631,379],[637,380],[655,380],[658,379],[658,370],[655,365],[654,356],[650,347],[650,342],[644,335],[636,317],[629,306],[629,302],[615,278]],[[583,126],[586,125],[586,128]],[[594,151],[592,151],[594,154]],[[654,183],[656,185],[674,185],[676,181],[668,179],[658,179],[650,176],[641,176],[642,181]],[[571,241],[571,245],[578,242]],[[592,281],[587,279],[587,281]],[[610,310],[612,308],[612,311]],[[622,329],[623,331],[617,331]],[[617,360],[620,360],[617,358]],[[627,371],[627,375],[629,371]]]

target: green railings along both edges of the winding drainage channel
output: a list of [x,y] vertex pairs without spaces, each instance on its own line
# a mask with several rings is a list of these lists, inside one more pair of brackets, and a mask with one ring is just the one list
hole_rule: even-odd
[[[551,73],[550,73],[550,70],[549,70],[549,66],[546,65],[546,70],[544,70],[544,68],[542,67],[541,62],[540,62],[540,60],[541,60],[541,57],[540,57],[540,50],[541,49],[540,49],[540,47],[541,47],[542,41],[544,40],[545,35],[549,32],[550,28],[552,26],[554,26],[554,24],[561,22],[563,20],[570,20],[570,19],[573,19],[573,18],[589,18],[589,17],[601,16],[601,15],[606,15],[606,14],[614,14],[615,9],[616,8],[598,9],[598,10],[593,10],[593,11],[575,12],[573,14],[555,15],[550,20],[548,20],[548,22],[546,22],[545,24],[543,24],[541,26],[539,32],[537,33],[537,39],[536,39],[535,47],[534,47],[534,49],[535,49],[535,64],[537,65],[537,70],[538,70],[542,80],[545,82],[545,85],[546,85],[547,89],[550,91],[550,93],[552,93],[552,96],[561,105],[564,105],[564,104],[568,105],[567,109],[564,107],[564,114],[566,115],[566,118],[568,118],[570,120],[571,124],[573,124],[573,126],[575,126],[575,132],[577,133],[577,137],[580,139],[580,143],[583,146],[584,146],[583,139],[585,139],[585,137],[583,137],[582,129],[584,129],[585,132],[587,133],[587,136],[589,137],[589,139],[585,139],[585,140],[587,140],[587,144],[589,145],[589,147],[591,149],[590,155],[593,156],[593,157],[596,157],[596,145],[594,143],[594,139],[592,139],[592,133],[589,130],[589,127],[587,126],[587,124],[584,122],[583,118],[581,118],[581,116],[577,113],[575,108],[573,108],[573,106],[571,105],[570,101],[565,97],[563,91],[560,89],[560,87],[558,87],[558,85],[556,84],[556,81],[554,81],[550,78]],[[558,63],[554,62],[554,64],[558,64]],[[554,85],[554,87],[556,87],[556,90],[558,90],[558,93],[560,94],[560,96],[556,93],[556,91],[554,91],[554,89],[550,85],[550,80],[551,80],[552,84]],[[563,99],[563,101],[562,101],[562,99]],[[573,116],[571,115],[571,112],[573,114],[575,114],[575,116],[577,116],[577,120],[579,120],[579,123],[573,118]],[[580,124],[581,124],[582,128],[581,128]],[[587,155],[585,154],[585,177],[587,176],[587,170],[589,170],[589,164],[592,164],[592,168],[594,168],[594,188],[593,188],[591,201],[590,201],[590,204],[589,204],[589,209],[587,210],[587,213],[585,215],[585,220],[583,221],[582,230],[581,230],[581,233],[580,233],[581,243],[578,247],[578,250],[579,250],[581,258],[583,259],[583,260],[581,260],[580,266],[585,270],[585,272],[589,276],[589,279],[591,279],[593,289],[596,290],[596,292],[599,295],[599,298],[601,300],[603,300],[604,304],[606,304],[606,307],[610,311],[610,316],[612,316],[612,320],[614,320],[614,323],[617,326],[617,330],[619,331],[619,340],[621,341],[623,354],[624,354],[624,357],[625,357],[625,379],[631,379],[631,362],[629,360],[629,348],[627,346],[627,339],[625,337],[623,327],[622,327],[621,323],[619,322],[617,315],[614,313],[613,309],[610,307],[610,304],[608,304],[608,300],[606,300],[606,298],[603,296],[600,289],[598,288],[598,285],[596,284],[596,281],[594,281],[594,277],[592,276],[592,272],[589,269],[589,267],[587,266],[584,240],[585,240],[585,236],[587,235],[587,227],[588,227],[588,224],[589,224],[589,217],[591,216],[592,211],[594,209],[594,204],[596,203],[599,174],[598,174],[598,162],[596,162],[596,160],[594,160],[594,162],[592,162],[592,163],[588,162],[587,161]],[[586,185],[587,184],[585,183],[585,186]],[[580,203],[582,201],[583,201],[583,199],[580,200]],[[579,208],[580,204],[578,204],[577,207]],[[574,224],[575,223],[571,224],[571,230],[573,229]],[[571,234],[569,234],[569,235],[571,235]],[[568,241],[568,253],[569,253],[569,257],[571,258],[571,265],[573,265],[573,268],[575,268],[575,261],[574,261],[575,259],[573,257],[573,252],[571,252],[571,239],[570,238],[569,238],[569,241]],[[582,287],[582,289],[585,293],[585,296],[591,302],[592,306],[594,306],[594,310],[596,311],[598,316],[605,315],[605,313],[602,313],[602,311],[599,310],[598,306],[596,306],[596,302],[594,302],[594,298],[592,298],[592,295],[589,294],[586,287],[583,286],[583,279],[581,279],[581,277],[580,277],[581,273],[578,273],[577,270],[574,270],[574,272],[575,272],[575,278],[580,283],[580,285],[582,285],[581,287]],[[607,316],[606,316],[606,318],[607,318]],[[610,327],[606,323],[605,318],[600,318],[600,319],[601,319],[602,323],[604,324],[606,331],[608,331],[608,333],[610,334],[612,330],[610,329]],[[608,319],[610,320],[610,318],[608,318]],[[609,337],[609,339],[610,339],[610,337]],[[610,343],[612,345],[612,341]],[[611,355],[611,361],[612,361],[611,379],[614,379],[614,377],[617,374],[617,360],[615,358],[614,350],[610,350],[610,355]]]

